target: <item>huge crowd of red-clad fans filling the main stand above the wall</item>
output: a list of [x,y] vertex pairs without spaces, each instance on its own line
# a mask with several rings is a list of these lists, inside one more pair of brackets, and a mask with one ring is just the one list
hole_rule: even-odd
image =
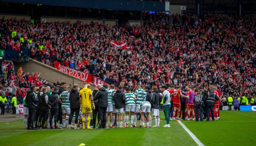
[[[0,22],[4,30],[17,33],[2,37],[2,48],[24,45],[38,61],[52,66],[58,61],[109,84],[124,88],[138,83],[197,88],[217,84],[226,97],[255,97],[254,15],[143,12],[141,27],[93,21],[40,24],[2,18]],[[112,40],[127,47],[111,46]]]

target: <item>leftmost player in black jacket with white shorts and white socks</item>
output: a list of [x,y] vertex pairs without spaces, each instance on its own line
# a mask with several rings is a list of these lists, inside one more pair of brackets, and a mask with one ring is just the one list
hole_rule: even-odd
[[116,93],[114,94],[113,101],[115,101],[116,113],[116,125],[118,127],[119,113],[120,113],[120,128],[123,128],[123,117],[124,117],[124,105],[125,105],[125,94],[122,91],[123,86],[119,85]]

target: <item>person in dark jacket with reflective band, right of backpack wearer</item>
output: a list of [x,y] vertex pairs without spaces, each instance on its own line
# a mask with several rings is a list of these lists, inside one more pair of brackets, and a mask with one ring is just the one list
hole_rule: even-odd
[[209,109],[211,110],[212,113],[212,121],[214,121],[214,113],[213,113],[213,106],[214,106],[214,102],[219,100],[219,96],[216,95],[215,93],[213,93],[213,86],[210,86],[210,92],[206,94],[205,96],[205,109],[206,109],[206,113],[207,113],[207,121],[210,121],[209,118]]

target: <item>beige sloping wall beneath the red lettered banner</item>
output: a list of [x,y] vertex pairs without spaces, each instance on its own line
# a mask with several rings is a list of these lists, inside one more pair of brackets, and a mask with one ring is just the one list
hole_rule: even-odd
[[[30,62],[28,63],[20,63],[20,62],[14,62],[15,67],[18,69],[19,67],[22,67],[24,72],[29,72],[29,74],[32,74],[32,72],[41,72],[40,77],[44,78],[48,81],[54,82],[54,81],[59,81],[59,82],[66,82],[67,85],[71,84],[72,87],[74,84],[78,84],[79,87],[83,87],[84,81],[67,75],[59,70],[56,70],[54,67],[51,67],[49,65],[46,65],[42,62],[38,62],[34,59],[31,59]],[[91,89],[93,90],[95,86],[91,84]]]

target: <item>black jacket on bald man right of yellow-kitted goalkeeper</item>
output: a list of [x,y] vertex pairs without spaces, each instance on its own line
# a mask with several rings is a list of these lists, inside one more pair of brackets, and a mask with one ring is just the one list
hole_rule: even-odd
[[98,100],[99,107],[108,107],[108,91],[104,87],[100,88],[93,100]]

